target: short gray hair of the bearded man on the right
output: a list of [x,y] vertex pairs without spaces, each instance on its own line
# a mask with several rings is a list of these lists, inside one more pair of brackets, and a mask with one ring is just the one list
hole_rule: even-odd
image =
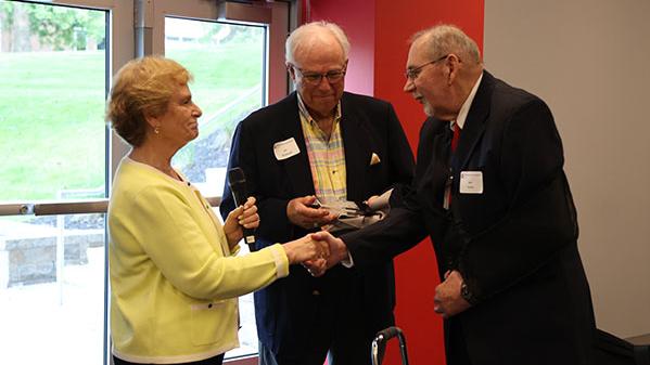
[[424,44],[432,58],[455,53],[463,60],[481,64],[479,45],[455,25],[441,24],[420,30],[411,37],[411,43],[422,37],[424,37]]

